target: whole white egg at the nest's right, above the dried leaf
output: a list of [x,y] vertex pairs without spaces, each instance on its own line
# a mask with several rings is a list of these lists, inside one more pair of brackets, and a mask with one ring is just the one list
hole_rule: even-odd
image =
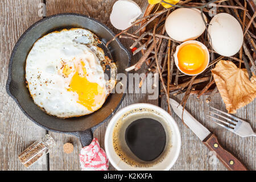
[[220,13],[210,20],[209,34],[214,51],[222,56],[235,55],[243,44],[240,23],[228,13]]

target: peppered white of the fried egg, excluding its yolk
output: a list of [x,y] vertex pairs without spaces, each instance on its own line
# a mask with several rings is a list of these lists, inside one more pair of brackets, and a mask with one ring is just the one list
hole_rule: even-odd
[[[46,113],[60,118],[78,117],[93,112],[79,104],[77,93],[68,91],[67,88],[75,74],[75,67],[82,60],[87,80],[104,88],[108,96],[100,60],[95,51],[86,46],[95,46],[96,42],[92,32],[82,28],[55,31],[35,42],[26,60],[26,80],[36,105]],[[63,64],[73,71],[68,77],[62,72]],[[93,110],[99,109],[105,99]]]

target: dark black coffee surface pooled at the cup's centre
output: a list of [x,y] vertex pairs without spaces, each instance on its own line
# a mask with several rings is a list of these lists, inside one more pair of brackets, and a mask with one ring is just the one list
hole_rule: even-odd
[[155,119],[141,118],[127,127],[125,140],[134,155],[150,162],[162,154],[166,146],[166,132]]

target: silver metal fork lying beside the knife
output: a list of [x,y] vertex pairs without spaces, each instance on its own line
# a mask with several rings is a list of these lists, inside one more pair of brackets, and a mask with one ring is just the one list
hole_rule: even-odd
[[[226,119],[226,121],[223,121],[219,118],[213,117],[212,115],[207,115],[210,118],[216,119],[218,122],[213,121],[212,119],[208,118],[209,121],[212,121],[212,122],[216,123],[217,125],[220,125],[220,126],[224,127],[225,129],[232,131],[233,133],[235,133],[237,135],[240,135],[240,137],[249,137],[249,136],[256,137],[256,134],[254,133],[253,129],[251,129],[251,126],[248,122],[243,121],[240,118],[234,117],[231,114],[225,113],[224,111],[218,110],[214,107],[211,107],[211,108],[222,113],[222,114],[228,115],[229,117],[233,118],[234,120],[224,117],[223,115],[214,113],[213,111],[210,111],[210,113],[215,114],[218,117],[221,117],[223,119]],[[229,121],[229,122],[227,122],[227,121]]]

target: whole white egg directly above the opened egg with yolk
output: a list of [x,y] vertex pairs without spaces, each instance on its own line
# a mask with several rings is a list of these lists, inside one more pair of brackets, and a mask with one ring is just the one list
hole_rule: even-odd
[[[207,18],[204,15],[205,22]],[[197,9],[179,8],[167,17],[166,32],[174,40],[194,40],[205,31],[204,20]]]

